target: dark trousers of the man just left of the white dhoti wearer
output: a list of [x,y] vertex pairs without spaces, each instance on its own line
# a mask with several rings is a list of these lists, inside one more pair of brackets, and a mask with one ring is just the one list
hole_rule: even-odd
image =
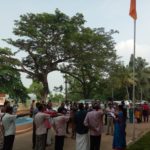
[[55,136],[55,150],[63,150],[65,136]]

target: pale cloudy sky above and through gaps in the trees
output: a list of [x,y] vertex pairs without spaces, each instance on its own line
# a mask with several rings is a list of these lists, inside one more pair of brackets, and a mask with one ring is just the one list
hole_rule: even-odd
[[[13,38],[14,20],[26,13],[54,13],[58,8],[69,16],[77,12],[85,17],[86,26],[104,27],[106,31],[115,29],[114,36],[117,54],[127,63],[133,52],[133,19],[129,17],[130,0],[0,0],[0,47],[10,47],[1,39]],[[150,0],[137,0],[137,42],[136,56],[145,58],[150,63]],[[21,56],[20,56],[21,57]],[[50,90],[64,83],[58,72],[48,77]],[[25,86],[30,80],[22,75]]]

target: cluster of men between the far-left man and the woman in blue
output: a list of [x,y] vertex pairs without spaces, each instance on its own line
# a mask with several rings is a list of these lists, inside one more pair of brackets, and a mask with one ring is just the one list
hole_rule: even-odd
[[49,137],[48,130],[51,127],[55,131],[55,150],[63,150],[70,123],[72,124],[72,135],[76,135],[76,150],[100,149],[103,111],[98,103],[93,104],[92,110],[85,109],[83,103],[78,105],[74,103],[68,110],[62,102],[57,112],[52,110],[52,107],[49,109],[49,105],[51,105],[51,102],[47,105],[37,103],[36,108],[32,111],[35,126],[33,128],[33,139],[36,139],[33,140],[35,150],[45,150],[46,141]]

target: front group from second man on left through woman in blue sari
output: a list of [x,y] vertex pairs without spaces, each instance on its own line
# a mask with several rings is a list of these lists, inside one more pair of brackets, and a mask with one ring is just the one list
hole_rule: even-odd
[[[110,113],[113,119],[113,149],[126,148],[126,116],[124,106],[118,105],[113,112],[102,110],[99,102],[94,102],[92,107],[83,103],[71,104],[69,108],[62,102],[57,111],[52,109],[52,103],[47,105],[37,103],[33,111],[33,148],[45,150],[46,143],[50,140],[48,130],[55,131],[55,150],[63,150],[64,140],[69,124],[72,127],[72,137],[75,135],[76,150],[100,150],[103,132],[103,116]],[[38,110],[38,111],[37,111]],[[109,120],[109,119],[108,119]],[[36,133],[36,134],[34,134]],[[75,134],[74,134],[75,133]]]

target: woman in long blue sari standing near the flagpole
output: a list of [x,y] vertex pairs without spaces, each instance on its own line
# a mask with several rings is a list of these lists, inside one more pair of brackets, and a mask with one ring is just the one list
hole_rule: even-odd
[[114,117],[114,137],[113,137],[113,149],[114,150],[125,150],[126,148],[126,123],[123,114],[123,106],[118,106],[118,111]]

